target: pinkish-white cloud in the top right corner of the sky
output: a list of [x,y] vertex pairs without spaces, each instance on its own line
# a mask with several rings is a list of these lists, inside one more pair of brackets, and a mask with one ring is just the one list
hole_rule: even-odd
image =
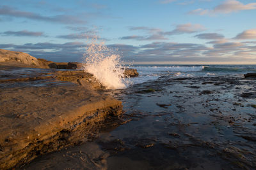
[[189,11],[190,15],[214,15],[216,13],[233,13],[236,11],[243,10],[255,10],[256,3],[243,4],[236,0],[227,0],[218,6],[214,7],[212,10],[198,8],[193,11]]

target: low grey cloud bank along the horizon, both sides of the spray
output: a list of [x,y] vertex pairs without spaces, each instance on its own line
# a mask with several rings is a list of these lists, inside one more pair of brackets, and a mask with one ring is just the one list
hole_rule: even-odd
[[[218,42],[219,41],[219,42]],[[253,41],[254,42],[254,41]],[[134,46],[111,44],[108,48],[118,48],[125,61],[136,62],[255,62],[255,43],[230,42],[227,39],[212,41],[212,46],[199,43],[177,43],[153,41]],[[58,62],[80,61],[84,53],[83,42],[68,43],[26,43],[24,45],[0,44],[0,48],[28,52],[29,54]],[[254,57],[254,58],[253,58]]]

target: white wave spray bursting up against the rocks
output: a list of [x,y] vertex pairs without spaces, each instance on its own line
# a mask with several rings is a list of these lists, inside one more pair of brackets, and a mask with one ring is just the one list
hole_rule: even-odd
[[124,89],[124,64],[117,50],[94,39],[84,53],[84,70],[93,74],[106,89]]

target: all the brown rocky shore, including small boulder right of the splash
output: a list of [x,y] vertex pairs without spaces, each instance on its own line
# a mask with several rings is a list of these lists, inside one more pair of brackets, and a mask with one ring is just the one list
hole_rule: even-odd
[[0,169],[84,143],[122,114],[122,102],[98,92],[104,86],[92,74],[58,69],[80,66],[0,50]]

